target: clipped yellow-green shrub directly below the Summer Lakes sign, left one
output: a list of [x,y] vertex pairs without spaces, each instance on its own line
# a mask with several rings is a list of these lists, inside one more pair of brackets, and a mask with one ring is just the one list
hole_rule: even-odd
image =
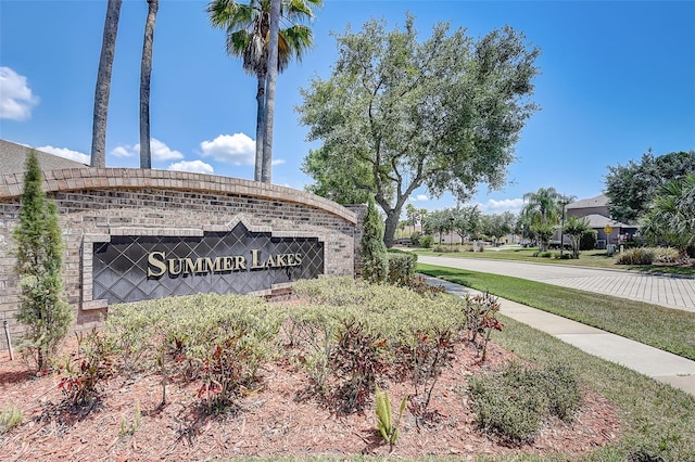
[[199,397],[215,410],[276,357],[282,319],[258,297],[200,294],[114,305],[104,335],[135,370],[161,363],[167,374],[199,380]]

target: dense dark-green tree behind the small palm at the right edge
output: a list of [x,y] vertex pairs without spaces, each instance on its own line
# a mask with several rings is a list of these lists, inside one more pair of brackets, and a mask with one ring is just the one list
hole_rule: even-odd
[[605,194],[610,200],[608,210],[612,219],[636,222],[648,204],[670,180],[695,171],[695,151],[673,152],[655,156],[652,150],[637,162],[608,166]]

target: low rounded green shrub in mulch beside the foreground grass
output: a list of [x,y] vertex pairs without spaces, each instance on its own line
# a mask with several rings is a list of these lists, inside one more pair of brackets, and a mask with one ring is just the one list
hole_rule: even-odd
[[565,365],[534,370],[513,362],[471,377],[469,390],[480,426],[520,442],[532,441],[548,415],[571,422],[582,400],[578,381]]

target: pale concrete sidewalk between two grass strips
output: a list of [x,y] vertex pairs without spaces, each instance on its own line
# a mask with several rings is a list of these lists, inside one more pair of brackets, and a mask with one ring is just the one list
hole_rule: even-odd
[[[478,293],[441,279],[425,279],[432,285],[442,285],[456,296]],[[695,361],[516,301],[500,298],[500,303],[504,316],[548,333],[590,355],[624,365],[695,396]]]

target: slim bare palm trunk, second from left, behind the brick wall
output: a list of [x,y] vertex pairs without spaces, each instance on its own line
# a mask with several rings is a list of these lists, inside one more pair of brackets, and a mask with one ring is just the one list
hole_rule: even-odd
[[152,75],[152,42],[154,22],[160,0],[148,1],[148,18],[144,22],[142,62],[140,64],[140,168],[152,168],[150,152],[150,77]]

